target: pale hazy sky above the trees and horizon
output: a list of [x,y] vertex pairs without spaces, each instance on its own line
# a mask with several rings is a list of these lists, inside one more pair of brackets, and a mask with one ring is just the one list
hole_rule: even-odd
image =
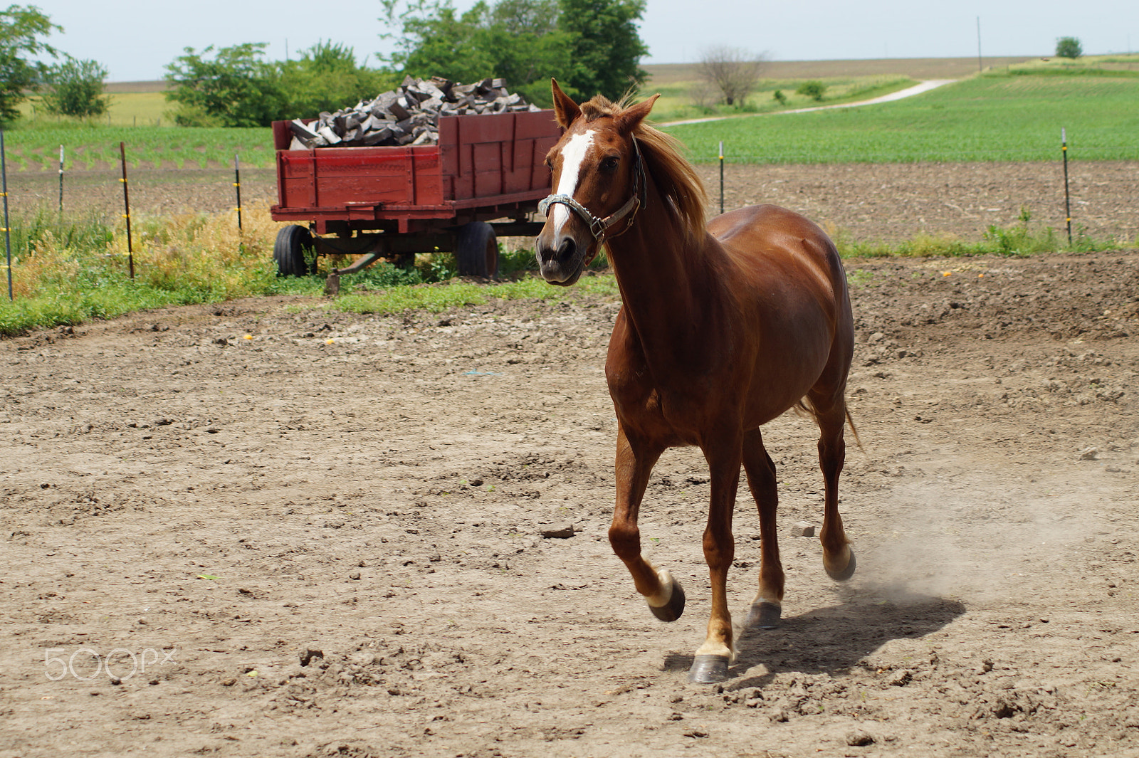
[[[453,0],[462,9],[474,0]],[[376,64],[379,0],[31,0],[64,27],[49,42],[109,69],[108,82],[162,79],[165,65],[210,44],[267,42],[269,58],[297,57],[320,40],[341,42]],[[770,60],[1047,56],[1059,36],[1085,53],[1139,49],[1136,0],[648,0],[640,35],[648,64],[690,63],[715,46]]]

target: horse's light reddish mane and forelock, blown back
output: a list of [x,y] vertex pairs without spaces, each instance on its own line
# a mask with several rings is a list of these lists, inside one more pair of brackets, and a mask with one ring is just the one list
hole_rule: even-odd
[[[587,123],[603,116],[615,117],[629,106],[630,99],[630,96],[625,96],[617,102],[612,102],[598,94],[581,104],[581,113]],[[703,232],[707,195],[704,182],[696,175],[691,164],[680,155],[680,141],[645,122],[637,125],[633,137],[640,145],[645,171],[652,174],[657,190],[667,200],[669,209],[677,215],[688,233]]]

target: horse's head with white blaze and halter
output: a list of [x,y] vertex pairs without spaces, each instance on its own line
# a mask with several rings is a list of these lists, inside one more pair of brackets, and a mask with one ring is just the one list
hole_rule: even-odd
[[645,167],[633,134],[659,96],[628,108],[600,96],[579,106],[556,81],[552,89],[565,133],[546,156],[554,193],[539,205],[546,225],[536,255],[546,281],[568,286],[644,203]]

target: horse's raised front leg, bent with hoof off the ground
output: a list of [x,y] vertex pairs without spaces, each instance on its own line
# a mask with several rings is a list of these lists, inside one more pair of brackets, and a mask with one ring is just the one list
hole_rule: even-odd
[[629,569],[637,592],[645,595],[653,615],[662,621],[675,621],[685,610],[685,591],[669,571],[658,571],[641,555],[637,526],[649,473],[662,452],[663,446],[630,436],[624,425],[617,423],[617,502],[609,526],[609,544]]

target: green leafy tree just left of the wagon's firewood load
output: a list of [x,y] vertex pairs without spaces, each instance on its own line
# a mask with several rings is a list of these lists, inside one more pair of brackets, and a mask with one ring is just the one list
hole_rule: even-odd
[[181,126],[264,126],[287,114],[287,97],[278,67],[262,59],[265,42],[245,42],[166,64],[166,81],[174,89],[166,100],[179,104],[174,122]]

